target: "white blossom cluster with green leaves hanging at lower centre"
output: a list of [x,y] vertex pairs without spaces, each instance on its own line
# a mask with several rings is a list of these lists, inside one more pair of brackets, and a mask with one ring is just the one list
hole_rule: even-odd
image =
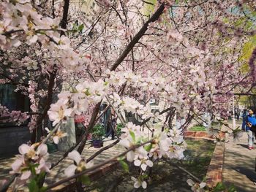
[[[181,129],[173,128],[162,131],[162,128],[155,128],[154,137],[148,137],[140,126],[135,126],[129,122],[121,131],[123,134],[121,134],[120,144],[129,150],[127,161],[133,162],[135,166],[140,167],[140,177],[138,179],[132,177],[132,180],[135,181],[135,188],[139,188],[140,185],[146,188],[143,174],[146,173],[147,167],[153,166],[153,162],[162,157],[170,159],[184,157],[186,142],[184,142]],[[150,139],[151,142],[149,144],[135,147]]]

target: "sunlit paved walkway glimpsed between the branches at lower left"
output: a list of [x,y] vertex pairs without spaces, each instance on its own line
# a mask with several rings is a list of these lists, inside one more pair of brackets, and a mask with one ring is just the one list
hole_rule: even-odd
[[[110,143],[113,143],[115,141],[113,140],[108,140],[106,142],[104,142],[104,147],[107,145],[110,145]],[[97,150],[99,150],[99,148],[94,148],[94,147],[90,147],[90,145],[86,145],[86,147],[83,150],[83,157],[85,158],[89,158],[91,155],[93,155],[95,152],[97,152]],[[94,158],[94,160],[92,160],[94,162],[94,165],[100,164],[120,153],[122,153],[124,151],[124,147],[122,147],[121,145],[115,145],[114,147],[111,147],[108,150],[105,150],[104,152],[102,152],[101,154],[97,155],[96,158]],[[58,160],[59,158],[61,158],[62,156],[62,152],[55,152],[55,153],[50,153],[49,155],[49,161],[51,163],[56,162],[56,160]],[[11,170],[11,164],[15,161],[15,157],[12,158],[5,158],[5,159],[1,159],[0,160],[0,180],[4,180],[10,177],[10,170]],[[61,163],[54,167],[50,174],[47,175],[47,177],[45,178],[45,184],[49,185],[51,183],[55,183],[58,180],[64,179],[66,176],[64,175],[64,169],[73,164],[73,161],[71,159],[69,159],[68,157],[64,159],[64,161],[61,161]],[[62,188],[62,186],[59,186],[58,188]]]

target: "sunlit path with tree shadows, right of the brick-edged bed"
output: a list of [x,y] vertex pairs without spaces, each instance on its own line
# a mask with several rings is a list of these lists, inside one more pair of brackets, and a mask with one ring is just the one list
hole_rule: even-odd
[[[241,127],[241,120],[236,122]],[[232,126],[232,123],[230,123]],[[255,158],[256,149],[247,149],[247,134],[237,142],[230,141],[225,144],[225,158],[223,166],[223,181],[227,185],[234,185],[238,192],[256,191]],[[254,146],[256,147],[256,145]]]

